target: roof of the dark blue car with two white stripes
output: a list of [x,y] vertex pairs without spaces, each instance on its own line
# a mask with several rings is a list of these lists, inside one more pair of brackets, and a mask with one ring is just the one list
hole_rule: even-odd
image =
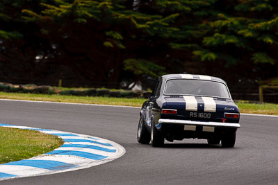
[[208,80],[208,81],[216,81],[216,82],[222,82],[226,84],[224,80],[221,78],[217,78],[214,76],[204,76],[204,75],[193,75],[193,74],[168,74],[162,76],[162,78],[165,78],[165,80],[170,80],[174,78],[181,78],[181,79],[194,79],[194,80]]

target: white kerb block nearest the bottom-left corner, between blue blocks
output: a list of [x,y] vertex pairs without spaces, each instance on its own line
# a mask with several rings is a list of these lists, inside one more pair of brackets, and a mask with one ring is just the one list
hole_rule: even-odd
[[0,165],[0,173],[8,173],[11,175],[37,175],[41,173],[49,173],[51,170],[44,168],[35,168],[32,166],[21,166],[21,165]]

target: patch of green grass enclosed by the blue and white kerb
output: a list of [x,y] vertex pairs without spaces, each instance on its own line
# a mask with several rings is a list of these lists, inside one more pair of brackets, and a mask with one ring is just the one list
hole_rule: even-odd
[[34,130],[0,127],[0,164],[38,156],[60,147],[57,136]]

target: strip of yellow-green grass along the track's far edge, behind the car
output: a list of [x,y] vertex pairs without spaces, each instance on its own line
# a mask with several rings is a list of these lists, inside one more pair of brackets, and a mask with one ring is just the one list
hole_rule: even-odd
[[[0,92],[2,99],[15,100],[38,100],[38,101],[52,101],[65,103],[88,103],[100,105],[125,105],[141,107],[145,99],[141,98],[111,98],[100,96],[61,96],[61,95],[44,95],[44,94],[20,94],[20,93],[6,93]],[[278,105],[273,103],[247,103],[239,101],[236,103],[240,109],[240,113],[248,114],[268,114],[278,115]]]

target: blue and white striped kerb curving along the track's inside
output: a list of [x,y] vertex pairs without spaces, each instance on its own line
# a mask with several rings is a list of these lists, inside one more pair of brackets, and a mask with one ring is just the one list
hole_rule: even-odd
[[44,155],[1,164],[0,180],[89,168],[117,159],[125,153],[124,148],[119,144],[95,136],[1,123],[0,126],[38,130],[46,134],[59,136],[65,141],[63,146]]

